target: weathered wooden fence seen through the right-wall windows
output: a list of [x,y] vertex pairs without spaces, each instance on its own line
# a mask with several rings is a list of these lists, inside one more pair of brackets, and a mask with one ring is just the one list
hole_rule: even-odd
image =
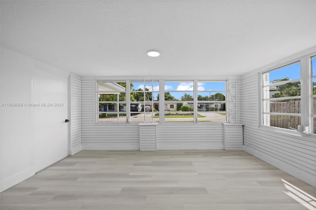
[[[316,98],[313,99],[313,110],[316,114]],[[278,113],[301,113],[301,101],[274,102],[270,103],[270,112]],[[314,134],[316,133],[316,117],[314,118]],[[301,117],[270,115],[270,126],[286,129],[297,129],[301,125]]]

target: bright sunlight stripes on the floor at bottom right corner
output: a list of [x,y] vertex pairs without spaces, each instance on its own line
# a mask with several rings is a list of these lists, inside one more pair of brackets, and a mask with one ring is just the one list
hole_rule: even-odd
[[293,198],[295,201],[302,204],[304,207],[306,207],[309,210],[316,210],[316,198],[311,196],[310,194],[304,192],[300,188],[294,186],[293,184],[285,181],[282,179],[284,186],[288,190],[287,192],[284,191],[284,193],[291,198]]

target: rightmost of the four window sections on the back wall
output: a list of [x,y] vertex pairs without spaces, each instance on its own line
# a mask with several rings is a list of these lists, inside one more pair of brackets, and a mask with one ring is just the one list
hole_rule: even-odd
[[226,121],[226,82],[198,81],[197,121]]

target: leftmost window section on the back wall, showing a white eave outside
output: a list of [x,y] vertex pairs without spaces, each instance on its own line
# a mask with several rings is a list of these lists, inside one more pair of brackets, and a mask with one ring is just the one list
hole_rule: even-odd
[[97,122],[126,122],[126,82],[97,81]]

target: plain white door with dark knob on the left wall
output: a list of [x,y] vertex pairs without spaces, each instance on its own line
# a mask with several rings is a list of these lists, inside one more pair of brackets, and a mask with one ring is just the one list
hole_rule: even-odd
[[68,155],[68,78],[35,70],[33,99],[38,172]]

